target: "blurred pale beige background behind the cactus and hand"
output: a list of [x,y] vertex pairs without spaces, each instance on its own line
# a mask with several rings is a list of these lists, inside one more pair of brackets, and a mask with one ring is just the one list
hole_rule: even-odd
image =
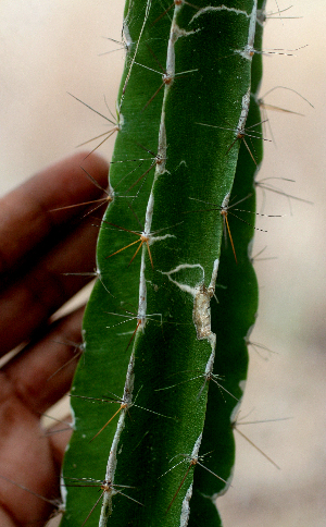
[[[239,425],[280,470],[236,434],[233,487],[218,499],[224,527],[326,525],[326,4],[292,3],[278,0],[280,10],[290,8],[283,20],[276,1],[267,3],[276,14],[266,22],[264,49],[289,54],[264,54],[261,95],[281,85],[314,109],[286,89],[266,96],[265,103],[304,117],[266,110],[265,134],[271,138],[271,126],[274,142],[265,143],[259,180],[273,177],[265,184],[313,205],[258,191],[259,210],[285,215],[258,218],[268,234],[256,232],[253,250],[267,245],[255,261],[261,293],[252,341],[274,353],[251,346],[239,417],[291,419]],[[108,123],[67,91],[109,115],[105,97],[114,112],[124,51],[108,38],[121,40],[123,7],[124,0],[0,3],[1,194],[105,132]],[[99,151],[110,159],[112,146],[108,140]],[[260,259],[269,257],[276,259]]]

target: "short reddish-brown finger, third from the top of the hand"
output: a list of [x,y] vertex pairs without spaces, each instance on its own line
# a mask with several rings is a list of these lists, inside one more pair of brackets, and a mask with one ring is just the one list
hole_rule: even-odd
[[17,397],[34,414],[45,413],[71,388],[82,356],[83,314],[84,307],[53,322],[3,368]]

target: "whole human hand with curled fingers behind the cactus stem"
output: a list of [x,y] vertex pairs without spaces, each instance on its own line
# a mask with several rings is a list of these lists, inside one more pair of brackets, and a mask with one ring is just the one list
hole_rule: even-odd
[[49,321],[91,279],[64,273],[96,267],[93,212],[80,220],[89,206],[68,207],[102,197],[80,164],[105,188],[108,163],[78,154],[0,200],[0,356],[28,342],[0,370],[1,527],[43,525],[60,495],[70,431],[46,434],[40,417],[71,385],[76,346],[64,342],[82,342],[84,308]]

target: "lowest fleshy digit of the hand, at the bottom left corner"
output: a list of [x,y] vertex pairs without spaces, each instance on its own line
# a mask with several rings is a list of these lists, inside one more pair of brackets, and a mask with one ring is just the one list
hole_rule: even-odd
[[14,525],[41,526],[53,504],[39,497],[59,495],[60,468],[38,416],[26,410],[3,372],[0,378],[0,503]]

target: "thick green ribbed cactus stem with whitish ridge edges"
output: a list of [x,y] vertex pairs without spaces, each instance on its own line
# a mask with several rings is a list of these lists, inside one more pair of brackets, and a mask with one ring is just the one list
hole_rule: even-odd
[[[98,488],[82,489],[76,485],[87,481],[72,478],[109,483],[89,527],[217,527],[213,498],[226,490],[235,461],[231,421],[247,376],[258,285],[249,254],[253,226],[228,216],[236,262],[223,243],[221,208],[233,192],[236,200],[251,194],[241,208],[254,210],[256,166],[235,139],[247,118],[248,125],[260,122],[261,57],[252,60],[251,51],[255,26],[255,46],[261,41],[256,10],[264,5],[176,1],[161,16],[162,4],[130,0],[125,9],[113,200],[99,235],[98,281],[72,388],[75,432],[63,469],[62,527],[82,526],[99,498]],[[166,84],[148,105],[161,83],[149,70],[159,70],[158,62]],[[260,163],[258,140],[254,156]],[[137,231],[139,243],[123,249],[137,242]],[[222,395],[212,373],[224,376],[229,394]]]

